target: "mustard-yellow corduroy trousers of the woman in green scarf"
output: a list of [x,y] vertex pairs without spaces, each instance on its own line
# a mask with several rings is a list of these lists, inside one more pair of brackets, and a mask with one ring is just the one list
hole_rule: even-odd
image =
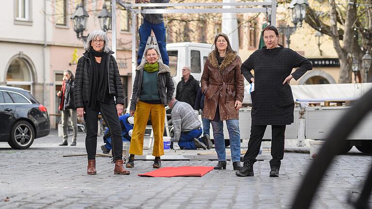
[[134,126],[132,139],[130,141],[129,153],[134,155],[143,154],[143,137],[149,115],[151,113],[151,124],[154,131],[153,156],[160,157],[164,155],[163,133],[165,108],[163,104],[149,104],[139,101],[136,105],[134,114]]

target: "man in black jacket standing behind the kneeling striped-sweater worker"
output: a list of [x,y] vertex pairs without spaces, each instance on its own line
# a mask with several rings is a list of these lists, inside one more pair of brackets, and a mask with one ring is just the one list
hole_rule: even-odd
[[200,86],[199,81],[190,74],[191,68],[189,66],[182,68],[182,78],[177,84],[176,100],[186,102],[194,107]]

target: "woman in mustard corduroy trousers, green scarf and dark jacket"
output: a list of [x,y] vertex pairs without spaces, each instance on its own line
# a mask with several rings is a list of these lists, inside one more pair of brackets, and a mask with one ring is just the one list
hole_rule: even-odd
[[126,167],[134,167],[134,156],[143,154],[143,137],[150,117],[154,131],[154,168],[161,167],[160,156],[164,155],[163,132],[165,106],[171,102],[174,84],[171,70],[159,61],[159,52],[150,46],[145,52],[146,63],[136,69],[129,112],[134,117],[129,161]]

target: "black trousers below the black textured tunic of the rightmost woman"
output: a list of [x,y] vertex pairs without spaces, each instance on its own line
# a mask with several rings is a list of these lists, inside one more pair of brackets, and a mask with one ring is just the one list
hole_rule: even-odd
[[[266,125],[252,125],[250,127],[250,138],[248,142],[248,150],[244,155],[244,162],[251,161],[255,163],[256,157],[260,152],[263,134],[265,133]],[[271,156],[270,167],[280,168],[280,160],[284,156],[284,133],[285,125],[271,126]]]

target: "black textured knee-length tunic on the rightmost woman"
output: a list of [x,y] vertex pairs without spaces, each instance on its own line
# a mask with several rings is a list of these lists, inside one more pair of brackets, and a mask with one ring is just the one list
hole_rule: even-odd
[[[292,69],[299,67],[292,73]],[[298,80],[311,62],[289,48],[258,49],[242,64],[241,71],[251,83],[254,77],[252,98],[252,125],[289,125],[294,121],[294,100],[291,86],[282,85],[291,75]],[[254,76],[251,74],[254,71]]]

